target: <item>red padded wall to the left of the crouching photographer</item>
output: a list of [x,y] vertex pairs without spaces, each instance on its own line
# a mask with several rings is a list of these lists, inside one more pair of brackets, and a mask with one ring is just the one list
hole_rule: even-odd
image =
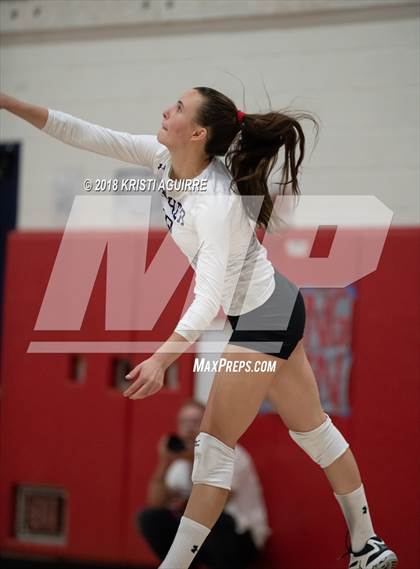
[[[160,234],[152,235],[156,249]],[[34,340],[136,340],[140,333],[104,330],[106,263],[102,261],[81,331],[34,331],[57,255],[59,233],[12,233],[7,249],[0,439],[0,547],[2,551],[65,558],[154,563],[135,531],[132,514],[144,507],[145,484],[161,429],[192,394],[192,354],[179,358],[180,386],[130,401],[115,387],[112,360],[131,367],[147,354],[84,354],[86,379],[70,377],[71,354],[26,353]],[[185,293],[184,293],[185,294]],[[165,311],[175,320],[174,302]],[[165,317],[165,315],[163,316]],[[170,331],[169,331],[170,334]],[[125,387],[128,383],[125,384]],[[13,537],[17,484],[64,487],[68,543],[46,546]],[[130,501],[130,503],[129,503]],[[128,550],[127,544],[130,545]]]

